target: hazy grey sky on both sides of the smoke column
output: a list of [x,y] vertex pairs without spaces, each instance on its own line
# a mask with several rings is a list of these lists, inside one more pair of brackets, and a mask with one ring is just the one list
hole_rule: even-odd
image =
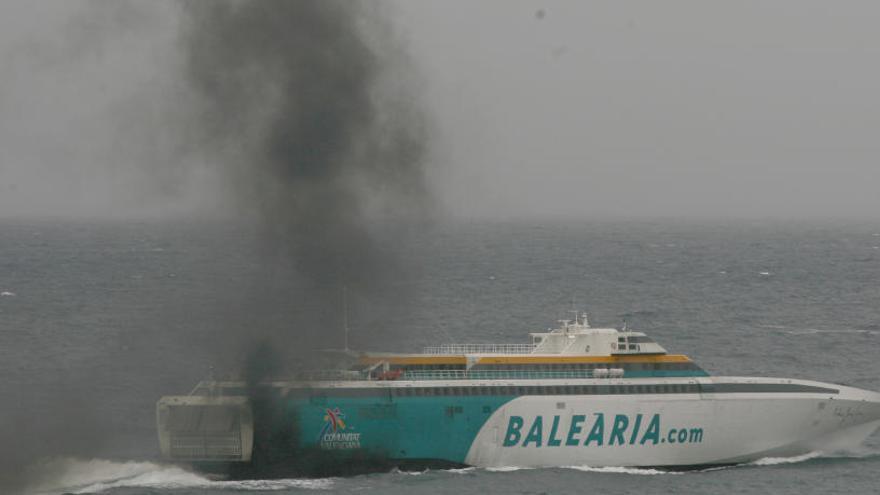
[[[162,125],[182,91],[174,5],[99,5],[0,7],[6,215],[210,202],[209,178],[144,172],[193,159]],[[455,215],[880,211],[876,2],[390,7],[420,71],[431,184]]]

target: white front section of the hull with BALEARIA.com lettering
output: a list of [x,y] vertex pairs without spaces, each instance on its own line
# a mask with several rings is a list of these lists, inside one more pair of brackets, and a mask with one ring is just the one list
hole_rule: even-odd
[[[836,387],[840,388],[840,387]],[[521,397],[480,429],[479,467],[682,467],[851,449],[880,427],[880,394]]]

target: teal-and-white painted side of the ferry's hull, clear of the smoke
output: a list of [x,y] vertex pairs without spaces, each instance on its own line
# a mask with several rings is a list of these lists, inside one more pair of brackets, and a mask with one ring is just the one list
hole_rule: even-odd
[[[689,382],[684,393],[653,394],[648,385],[605,395],[368,398],[327,391],[320,405],[291,405],[303,448],[478,467],[734,464],[845,450],[880,426],[874,392],[796,380]],[[344,415],[344,428],[327,428],[331,413]]]

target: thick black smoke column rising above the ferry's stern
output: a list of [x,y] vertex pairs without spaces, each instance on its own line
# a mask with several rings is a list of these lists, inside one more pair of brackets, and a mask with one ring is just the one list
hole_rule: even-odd
[[[401,269],[384,249],[389,219],[411,224],[427,211],[424,124],[379,4],[183,5],[194,146],[259,223],[263,273],[248,304],[260,316],[244,344],[256,380],[278,371],[266,362],[289,367],[342,346],[343,292],[382,304]],[[371,329],[359,330],[364,340]]]

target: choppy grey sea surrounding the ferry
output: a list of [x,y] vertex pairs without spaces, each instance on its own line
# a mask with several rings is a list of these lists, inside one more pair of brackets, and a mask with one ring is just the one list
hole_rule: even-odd
[[[851,452],[685,473],[569,466],[230,481],[163,464],[156,399],[231,365],[209,352],[224,338],[215,329],[230,314],[266,311],[246,296],[261,273],[253,239],[240,225],[194,220],[0,221],[0,460],[30,480],[0,492],[880,491],[877,435]],[[880,390],[880,222],[474,221],[383,245],[410,267],[392,277],[409,296],[405,307],[355,301],[356,346],[376,347],[365,336],[383,328],[393,329],[387,350],[523,342],[575,306],[594,325],[626,320],[713,374]]]

